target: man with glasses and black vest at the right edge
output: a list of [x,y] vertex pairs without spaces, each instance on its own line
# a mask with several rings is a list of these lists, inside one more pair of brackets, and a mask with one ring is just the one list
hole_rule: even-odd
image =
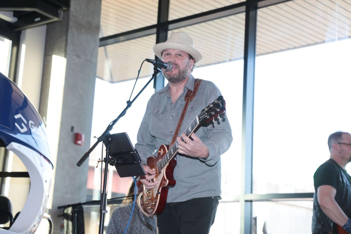
[[314,173],[312,233],[351,233],[351,134],[335,132],[328,138],[330,159]]

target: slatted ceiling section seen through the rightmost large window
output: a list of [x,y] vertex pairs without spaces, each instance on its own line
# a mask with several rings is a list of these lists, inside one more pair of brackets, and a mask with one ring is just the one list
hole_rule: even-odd
[[294,0],[258,10],[256,54],[342,40],[351,36],[351,2]]

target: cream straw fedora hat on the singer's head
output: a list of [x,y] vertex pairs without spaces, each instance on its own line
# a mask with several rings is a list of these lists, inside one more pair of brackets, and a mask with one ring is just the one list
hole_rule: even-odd
[[184,51],[190,54],[195,59],[195,62],[200,62],[203,59],[200,52],[194,48],[193,39],[184,32],[172,32],[167,41],[156,44],[153,47],[155,55],[160,59],[162,59],[162,52],[165,49],[179,49],[180,51]]

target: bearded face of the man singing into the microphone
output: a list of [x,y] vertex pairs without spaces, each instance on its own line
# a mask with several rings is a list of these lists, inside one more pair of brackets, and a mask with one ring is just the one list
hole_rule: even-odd
[[172,70],[162,74],[171,83],[179,83],[189,77],[194,60],[189,59],[189,54],[178,49],[165,49],[162,53],[162,61],[171,62]]

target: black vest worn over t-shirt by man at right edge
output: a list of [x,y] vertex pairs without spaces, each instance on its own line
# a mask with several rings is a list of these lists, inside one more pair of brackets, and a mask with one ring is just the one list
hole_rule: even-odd
[[[335,166],[339,173],[339,181],[337,184],[337,190],[335,195],[335,201],[338,203],[340,208],[344,211],[347,217],[351,217],[351,177],[347,172],[338,165],[333,159],[329,159],[325,163],[331,163]],[[317,188],[314,185],[314,195],[313,195],[313,217],[312,217],[312,233],[320,233],[322,230],[328,232],[330,230],[329,226],[323,222],[322,216],[326,217],[326,221],[331,226],[332,221],[322,212],[320,214],[317,203]]]

